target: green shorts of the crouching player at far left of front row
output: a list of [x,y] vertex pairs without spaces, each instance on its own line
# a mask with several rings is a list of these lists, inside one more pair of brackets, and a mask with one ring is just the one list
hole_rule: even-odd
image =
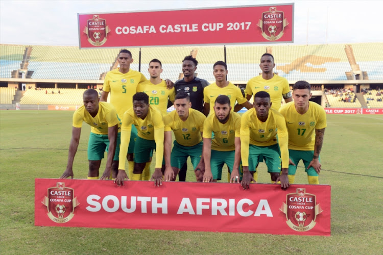
[[[113,160],[118,161],[119,144],[121,143],[121,133],[117,133],[116,151]],[[88,160],[101,160],[104,158],[105,150],[108,152],[108,135],[90,133],[88,142]]]

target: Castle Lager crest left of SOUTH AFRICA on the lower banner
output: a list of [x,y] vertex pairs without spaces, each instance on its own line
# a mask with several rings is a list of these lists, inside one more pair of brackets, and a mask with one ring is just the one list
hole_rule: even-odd
[[48,217],[57,223],[65,223],[75,216],[75,207],[80,203],[74,197],[73,189],[65,187],[65,183],[57,183],[48,189],[48,196],[41,201],[48,209]]

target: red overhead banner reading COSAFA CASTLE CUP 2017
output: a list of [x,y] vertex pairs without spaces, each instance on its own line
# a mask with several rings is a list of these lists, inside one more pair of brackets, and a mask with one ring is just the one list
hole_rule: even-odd
[[294,4],[78,14],[80,48],[293,42]]

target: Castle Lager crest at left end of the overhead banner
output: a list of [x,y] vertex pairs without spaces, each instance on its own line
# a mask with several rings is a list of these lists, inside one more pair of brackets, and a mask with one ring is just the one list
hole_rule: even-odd
[[88,36],[88,42],[94,46],[103,45],[109,32],[105,19],[100,18],[99,15],[93,15],[92,19],[86,21],[84,33]]

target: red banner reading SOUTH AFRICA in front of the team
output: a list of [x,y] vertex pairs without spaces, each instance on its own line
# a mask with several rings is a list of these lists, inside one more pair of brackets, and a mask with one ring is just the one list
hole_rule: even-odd
[[331,187],[35,179],[35,225],[330,235]]

